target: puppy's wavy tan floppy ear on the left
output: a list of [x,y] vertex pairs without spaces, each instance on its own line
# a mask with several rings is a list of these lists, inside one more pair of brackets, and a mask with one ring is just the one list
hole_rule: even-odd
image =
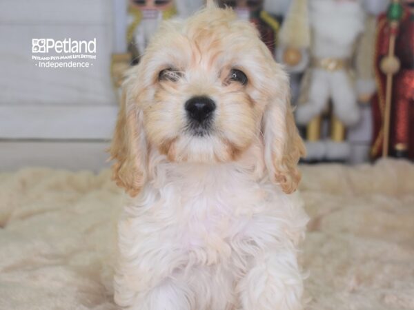
[[109,152],[110,159],[117,161],[112,165],[112,178],[133,197],[137,196],[144,185],[148,147],[142,128],[143,116],[138,110],[131,88],[124,83],[121,107]]

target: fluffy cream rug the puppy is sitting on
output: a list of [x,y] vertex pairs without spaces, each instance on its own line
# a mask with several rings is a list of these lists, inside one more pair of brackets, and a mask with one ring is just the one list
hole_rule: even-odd
[[[307,309],[414,309],[414,165],[302,171]],[[0,174],[0,309],[115,309],[107,266],[124,196],[109,176]]]

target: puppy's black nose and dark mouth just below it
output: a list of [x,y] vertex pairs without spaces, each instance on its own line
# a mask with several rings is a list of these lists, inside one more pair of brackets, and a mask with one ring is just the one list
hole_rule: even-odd
[[188,117],[188,130],[193,134],[204,135],[210,129],[215,102],[207,96],[195,96],[185,105]]

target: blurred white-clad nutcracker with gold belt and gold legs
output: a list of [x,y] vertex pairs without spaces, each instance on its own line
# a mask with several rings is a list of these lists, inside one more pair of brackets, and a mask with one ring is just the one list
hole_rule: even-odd
[[[355,125],[360,114],[352,69],[355,45],[364,30],[361,3],[356,0],[294,0],[291,10],[288,16],[293,21],[286,18],[281,33],[281,36],[289,34],[285,42],[287,47],[289,39],[297,41],[295,28],[299,28],[300,35],[306,35],[308,28],[311,35],[309,65],[302,79],[296,110],[297,124],[306,127],[306,160],[346,161],[351,151],[345,140],[346,127]],[[297,54],[304,57],[304,48],[299,45],[296,52],[295,48],[288,48],[283,59],[289,61]],[[324,139],[322,121],[330,101],[330,129]]]

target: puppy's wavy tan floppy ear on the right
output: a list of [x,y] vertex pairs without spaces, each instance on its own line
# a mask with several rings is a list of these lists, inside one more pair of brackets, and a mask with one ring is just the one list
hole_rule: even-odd
[[288,76],[275,65],[274,89],[264,112],[264,161],[270,179],[287,194],[295,192],[300,181],[297,163],[306,154],[302,138],[297,132],[292,107]]

